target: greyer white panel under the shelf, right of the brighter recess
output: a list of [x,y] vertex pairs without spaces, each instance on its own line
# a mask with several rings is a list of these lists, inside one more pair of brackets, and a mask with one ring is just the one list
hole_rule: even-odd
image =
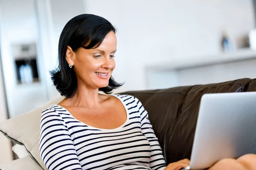
[[241,78],[256,78],[256,58],[243,61],[221,63],[177,71],[178,85],[196,85],[226,82]]

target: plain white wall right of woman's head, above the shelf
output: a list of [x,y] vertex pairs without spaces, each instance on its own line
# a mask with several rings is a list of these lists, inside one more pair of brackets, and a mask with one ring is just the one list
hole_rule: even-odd
[[236,49],[237,39],[255,25],[251,0],[84,0],[84,3],[86,13],[105,17],[118,30],[114,75],[126,82],[119,91],[146,89],[146,66],[218,54],[222,29],[227,31]]

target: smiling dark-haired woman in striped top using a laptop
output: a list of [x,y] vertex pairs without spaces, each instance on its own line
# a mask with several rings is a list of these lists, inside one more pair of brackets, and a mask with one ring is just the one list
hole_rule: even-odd
[[115,52],[115,28],[102,17],[82,14],[64,27],[59,67],[51,74],[65,99],[41,117],[40,153],[48,170],[178,170],[189,165],[184,159],[166,167],[141,102],[110,94],[121,86],[111,77]]

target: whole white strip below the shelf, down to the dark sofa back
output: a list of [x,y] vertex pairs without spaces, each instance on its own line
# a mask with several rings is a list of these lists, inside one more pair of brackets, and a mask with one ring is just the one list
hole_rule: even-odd
[[240,61],[201,65],[170,70],[148,69],[147,88],[162,89],[177,86],[211,84],[242,78],[256,78],[256,55]]

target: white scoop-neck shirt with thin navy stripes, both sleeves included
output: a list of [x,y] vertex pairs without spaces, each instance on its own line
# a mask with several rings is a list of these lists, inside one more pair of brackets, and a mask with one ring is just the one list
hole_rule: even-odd
[[126,122],[99,129],[80,122],[65,108],[42,112],[40,154],[48,170],[163,170],[163,152],[142,103],[113,94],[125,107]]

